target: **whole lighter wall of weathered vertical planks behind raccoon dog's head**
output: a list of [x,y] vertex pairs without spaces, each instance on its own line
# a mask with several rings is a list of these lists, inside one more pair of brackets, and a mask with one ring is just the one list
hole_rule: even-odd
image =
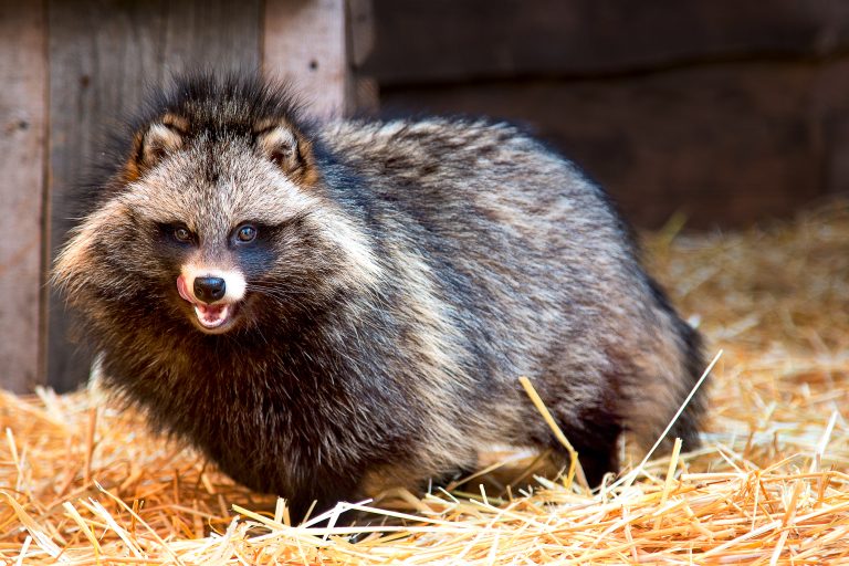
[[262,69],[308,88],[315,114],[340,114],[356,85],[348,38],[368,31],[363,7],[0,0],[0,386],[66,390],[87,377],[91,353],[45,274],[69,226],[69,191],[145,92],[188,69]]

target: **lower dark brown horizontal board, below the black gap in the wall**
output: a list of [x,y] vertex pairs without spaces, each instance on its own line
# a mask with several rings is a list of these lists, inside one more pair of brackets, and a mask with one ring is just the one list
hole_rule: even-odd
[[640,227],[790,217],[849,190],[849,56],[725,63],[641,76],[385,87],[387,118],[484,115],[528,127]]

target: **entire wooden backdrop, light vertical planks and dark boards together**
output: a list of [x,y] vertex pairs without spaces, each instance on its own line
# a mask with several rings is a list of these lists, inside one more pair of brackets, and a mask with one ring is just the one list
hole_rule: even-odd
[[45,285],[69,190],[146,87],[201,66],[290,77],[316,115],[507,119],[642,229],[849,188],[845,0],[0,0],[0,386],[86,378]]

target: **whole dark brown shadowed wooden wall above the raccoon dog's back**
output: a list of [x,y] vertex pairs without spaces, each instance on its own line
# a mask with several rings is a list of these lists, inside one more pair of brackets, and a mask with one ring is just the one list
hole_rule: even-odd
[[641,227],[787,217],[849,190],[845,0],[375,0],[385,116],[527,126]]

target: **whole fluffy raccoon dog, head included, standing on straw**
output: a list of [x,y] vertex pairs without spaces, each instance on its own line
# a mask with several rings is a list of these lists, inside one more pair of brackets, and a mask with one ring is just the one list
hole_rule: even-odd
[[105,385],[296,514],[559,448],[520,376],[598,482],[702,369],[604,193],[512,127],[305,125],[206,76],[124,151],[56,265]]

